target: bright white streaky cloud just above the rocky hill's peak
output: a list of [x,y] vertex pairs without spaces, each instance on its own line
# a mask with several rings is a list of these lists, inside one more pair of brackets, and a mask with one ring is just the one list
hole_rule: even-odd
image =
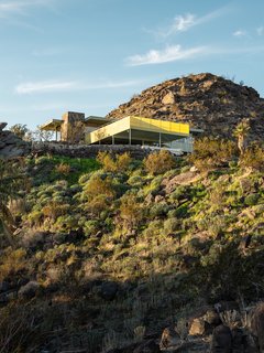
[[147,65],[147,64],[161,64],[168,63],[184,58],[190,58],[197,56],[197,54],[201,54],[206,51],[206,47],[197,46],[187,50],[183,50],[182,46],[173,45],[168,46],[165,50],[157,51],[151,50],[146,54],[138,54],[128,57],[127,62],[129,66],[139,66],[139,65]]

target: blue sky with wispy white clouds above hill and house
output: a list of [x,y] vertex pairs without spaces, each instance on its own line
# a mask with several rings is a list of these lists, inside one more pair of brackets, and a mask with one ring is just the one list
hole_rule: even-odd
[[0,121],[105,116],[210,72],[264,97],[263,0],[0,0]]

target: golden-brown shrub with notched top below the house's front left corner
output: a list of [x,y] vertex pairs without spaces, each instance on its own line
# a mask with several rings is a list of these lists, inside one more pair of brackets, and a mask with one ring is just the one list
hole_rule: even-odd
[[109,152],[100,151],[97,156],[97,161],[107,172],[125,172],[129,169],[132,159],[128,152],[117,154],[113,158]]

